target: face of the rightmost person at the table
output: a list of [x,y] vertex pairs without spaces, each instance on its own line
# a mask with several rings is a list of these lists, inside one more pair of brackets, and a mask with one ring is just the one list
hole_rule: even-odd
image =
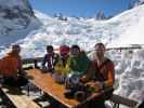
[[102,58],[102,57],[104,57],[104,54],[105,54],[105,48],[103,45],[96,45],[95,46],[96,57]]

